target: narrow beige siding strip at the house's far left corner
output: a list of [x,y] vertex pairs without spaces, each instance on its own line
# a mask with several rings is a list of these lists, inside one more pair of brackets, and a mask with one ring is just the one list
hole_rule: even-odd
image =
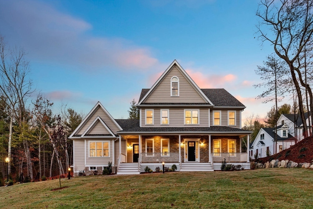
[[85,140],[73,140],[74,171],[85,170]]

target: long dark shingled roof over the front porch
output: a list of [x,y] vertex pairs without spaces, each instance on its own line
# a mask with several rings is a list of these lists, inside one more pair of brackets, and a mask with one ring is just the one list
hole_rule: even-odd
[[118,134],[135,134],[135,133],[184,133],[184,134],[250,134],[252,131],[247,131],[240,128],[232,128],[227,126],[212,126],[212,127],[134,127],[116,132]]

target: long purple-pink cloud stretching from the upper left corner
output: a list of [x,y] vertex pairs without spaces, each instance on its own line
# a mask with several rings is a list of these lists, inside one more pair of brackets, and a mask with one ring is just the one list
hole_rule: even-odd
[[106,66],[142,70],[158,64],[148,47],[121,38],[90,36],[90,23],[38,1],[1,1],[0,25],[2,32],[14,31],[3,35],[19,40],[33,60],[88,70]]

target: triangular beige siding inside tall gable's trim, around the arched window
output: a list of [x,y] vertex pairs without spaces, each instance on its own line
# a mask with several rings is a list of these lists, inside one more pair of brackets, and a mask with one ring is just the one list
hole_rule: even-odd
[[[171,97],[171,78],[177,76],[179,79],[179,97]],[[176,65],[164,77],[161,83],[152,91],[144,101],[149,102],[205,102],[193,86],[187,81]]]

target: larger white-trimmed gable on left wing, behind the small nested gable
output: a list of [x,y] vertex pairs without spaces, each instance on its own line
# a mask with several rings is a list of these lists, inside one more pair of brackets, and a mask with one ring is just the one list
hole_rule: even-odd
[[69,138],[72,138],[74,135],[82,135],[98,116],[113,133],[123,130],[121,126],[110,115],[110,113],[103,107],[103,105],[100,102],[97,102],[97,104],[92,108],[92,110],[88,113],[88,115],[84,118],[80,125],[74,130],[74,132],[69,136]]

